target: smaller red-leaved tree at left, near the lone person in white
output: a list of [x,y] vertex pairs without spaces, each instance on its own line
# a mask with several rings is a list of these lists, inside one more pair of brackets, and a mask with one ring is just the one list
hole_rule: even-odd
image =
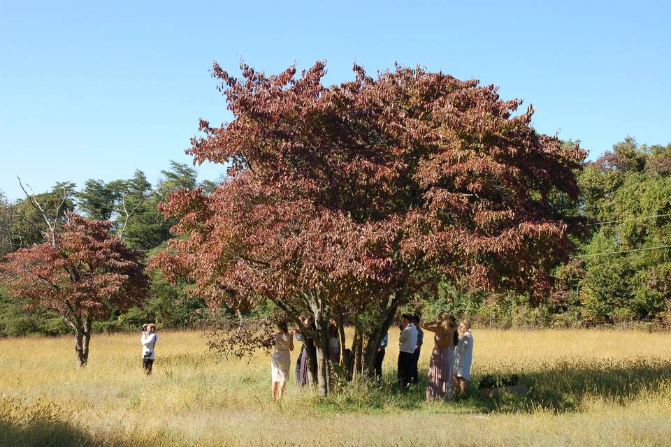
[[89,358],[92,322],[142,302],[149,279],[138,251],[110,233],[110,221],[91,221],[67,214],[50,242],[32,244],[0,263],[3,283],[25,303],[53,309],[75,333],[79,366]]

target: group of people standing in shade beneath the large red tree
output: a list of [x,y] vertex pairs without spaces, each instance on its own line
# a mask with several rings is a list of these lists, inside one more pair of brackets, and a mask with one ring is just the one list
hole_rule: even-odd
[[[398,384],[402,390],[410,388],[411,384],[419,383],[418,362],[421,346],[424,344],[424,330],[434,333],[434,346],[428,367],[426,400],[449,400],[454,393],[466,393],[466,383],[470,378],[470,367],[473,353],[473,335],[470,323],[457,323],[454,316],[442,312],[437,320],[420,323],[417,315],[403,314],[399,328],[398,351]],[[301,317],[301,323],[309,330],[315,330],[315,320],[312,316]],[[342,365],[347,361],[349,349],[340,350],[338,325],[331,321],[328,328],[329,360],[332,364]],[[270,360],[272,387],[271,395],[274,401],[280,400],[284,388],[289,380],[291,354],[294,350],[294,340],[303,342],[301,351],[296,358],[296,384],[299,387],[308,383],[309,351],[315,348],[312,338],[301,333],[298,328],[289,331],[289,325],[282,321],[277,323],[277,332],[273,334],[274,351]],[[387,332],[377,348],[373,372],[375,378],[382,379],[382,362],[389,345]],[[351,356],[351,353],[349,353]]]

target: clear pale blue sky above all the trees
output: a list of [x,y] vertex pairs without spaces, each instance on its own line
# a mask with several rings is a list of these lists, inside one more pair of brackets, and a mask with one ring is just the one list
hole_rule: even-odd
[[[228,3],[228,4],[227,4]],[[326,59],[329,84],[422,64],[500,85],[542,133],[591,158],[626,135],[671,141],[668,1],[0,0],[0,190],[59,180],[152,182],[198,119],[230,119],[212,61],[266,73]],[[440,5],[440,6],[438,6]],[[215,179],[221,166],[202,166]]]

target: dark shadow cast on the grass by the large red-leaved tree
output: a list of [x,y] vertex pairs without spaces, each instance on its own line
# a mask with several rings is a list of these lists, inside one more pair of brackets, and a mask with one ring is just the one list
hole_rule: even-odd
[[[480,397],[477,385],[484,374],[517,374],[528,393]],[[466,396],[446,404],[426,406],[426,369],[409,390],[401,390],[396,372],[387,372],[380,383],[352,382],[333,390],[325,399],[316,398],[318,413],[366,413],[412,411],[420,408],[449,413],[491,413],[533,411],[581,411],[585,400],[627,404],[641,395],[654,395],[671,384],[671,360],[631,358],[628,360],[554,360],[552,362],[507,365],[500,371],[485,369],[472,377]]]

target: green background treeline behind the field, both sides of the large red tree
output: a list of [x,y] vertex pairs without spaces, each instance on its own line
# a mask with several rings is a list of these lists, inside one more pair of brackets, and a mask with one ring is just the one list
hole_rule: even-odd
[[[569,143],[570,144],[570,143]],[[559,326],[619,323],[668,324],[671,321],[671,145],[637,145],[627,138],[577,173],[580,199],[564,210],[582,230],[572,256],[554,270],[549,295],[478,293],[454,283],[438,284],[408,305],[432,314],[447,309],[485,324]],[[196,170],[171,161],[152,185],[138,170],[130,179],[89,179],[83,186],[59,182],[36,195],[45,210],[59,216],[76,211],[89,219],[109,220],[124,242],[147,256],[171,237],[159,203],[180,189],[214,191],[219,182],[198,182]],[[561,200],[561,198],[558,198]],[[558,204],[561,207],[561,203]],[[44,241],[44,221],[29,199],[10,203],[0,193],[0,254]],[[543,256],[543,254],[538,254]],[[95,330],[131,330],[142,322],[185,328],[208,314],[205,301],[186,293],[188,284],[168,284],[150,272],[150,298],[143,307],[113,312]],[[430,300],[424,297],[431,295]],[[435,299],[438,298],[438,299]],[[272,306],[268,306],[271,312]],[[43,309],[27,312],[0,290],[0,336],[56,335],[68,332],[62,318]]]

